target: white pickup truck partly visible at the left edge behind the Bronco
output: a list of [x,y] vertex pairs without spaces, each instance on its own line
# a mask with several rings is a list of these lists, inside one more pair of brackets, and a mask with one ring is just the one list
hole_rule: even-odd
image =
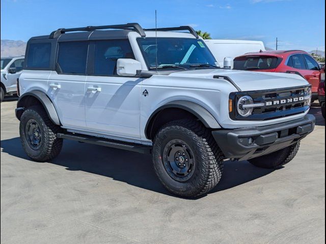
[[1,102],[5,95],[17,93],[17,78],[21,74],[24,56],[1,58]]

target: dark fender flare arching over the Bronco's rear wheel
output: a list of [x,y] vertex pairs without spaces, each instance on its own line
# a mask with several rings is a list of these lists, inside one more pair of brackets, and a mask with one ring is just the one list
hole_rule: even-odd
[[51,102],[51,100],[48,98],[48,96],[42,92],[41,90],[32,90],[31,92],[24,93],[21,95],[17,102],[17,108],[16,108],[16,117],[20,119],[24,107],[24,102],[26,101],[27,97],[34,97],[36,98],[44,107],[49,119],[52,121],[53,124],[60,126],[60,119],[58,116],[58,113],[56,111],[55,106]]

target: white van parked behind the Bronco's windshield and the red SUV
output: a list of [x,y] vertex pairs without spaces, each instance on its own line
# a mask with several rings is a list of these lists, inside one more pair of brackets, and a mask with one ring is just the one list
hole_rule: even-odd
[[[265,51],[262,41],[246,41],[246,40],[204,40],[216,60],[221,67],[225,57],[234,59],[237,56],[248,52]],[[233,67],[231,67],[233,69]]]

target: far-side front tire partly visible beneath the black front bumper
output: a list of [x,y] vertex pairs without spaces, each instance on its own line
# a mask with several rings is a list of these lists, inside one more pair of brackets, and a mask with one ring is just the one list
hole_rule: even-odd
[[299,147],[300,141],[274,153],[250,159],[249,162],[259,168],[277,169],[289,163],[295,157]]

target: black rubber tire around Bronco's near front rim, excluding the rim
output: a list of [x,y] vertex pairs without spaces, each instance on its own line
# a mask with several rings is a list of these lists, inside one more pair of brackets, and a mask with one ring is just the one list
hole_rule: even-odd
[[[184,141],[193,152],[194,172],[182,182],[172,178],[164,165],[164,148],[175,139]],[[163,126],[154,139],[154,170],[162,185],[181,197],[196,197],[212,190],[222,177],[223,160],[223,153],[211,131],[196,120],[172,121]]]

